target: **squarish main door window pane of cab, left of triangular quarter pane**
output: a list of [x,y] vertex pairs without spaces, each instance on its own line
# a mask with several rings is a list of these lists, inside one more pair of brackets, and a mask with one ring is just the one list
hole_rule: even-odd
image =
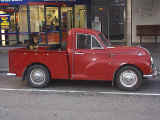
[[77,34],[77,49],[91,49],[91,35]]

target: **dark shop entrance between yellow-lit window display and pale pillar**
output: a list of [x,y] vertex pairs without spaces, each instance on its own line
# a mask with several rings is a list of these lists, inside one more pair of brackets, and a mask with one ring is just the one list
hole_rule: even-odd
[[113,43],[127,43],[127,0],[92,0],[92,29]]

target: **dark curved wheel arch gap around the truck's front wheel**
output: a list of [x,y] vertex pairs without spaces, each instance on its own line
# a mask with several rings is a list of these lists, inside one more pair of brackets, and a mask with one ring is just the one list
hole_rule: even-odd
[[133,65],[133,64],[124,64],[124,65],[120,66],[120,67],[114,72],[113,81],[112,81],[112,85],[113,85],[113,86],[115,85],[117,73],[119,72],[120,69],[122,69],[123,67],[126,67],[126,66],[131,66],[131,67],[136,68],[137,70],[139,70],[139,71],[141,72],[141,75],[143,76],[142,70],[141,70],[139,67],[137,67],[136,65]]

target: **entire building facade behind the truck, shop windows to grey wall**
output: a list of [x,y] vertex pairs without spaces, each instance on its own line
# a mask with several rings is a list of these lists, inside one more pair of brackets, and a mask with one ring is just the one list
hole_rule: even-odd
[[41,35],[42,45],[58,44],[75,27],[101,31],[113,43],[139,44],[136,26],[159,24],[159,5],[159,0],[0,0],[0,46],[23,46],[32,33]]

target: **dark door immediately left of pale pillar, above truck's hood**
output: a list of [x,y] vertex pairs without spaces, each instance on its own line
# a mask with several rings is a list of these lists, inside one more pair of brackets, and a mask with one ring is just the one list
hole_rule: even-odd
[[110,39],[123,41],[125,32],[125,1],[114,0],[109,10]]

